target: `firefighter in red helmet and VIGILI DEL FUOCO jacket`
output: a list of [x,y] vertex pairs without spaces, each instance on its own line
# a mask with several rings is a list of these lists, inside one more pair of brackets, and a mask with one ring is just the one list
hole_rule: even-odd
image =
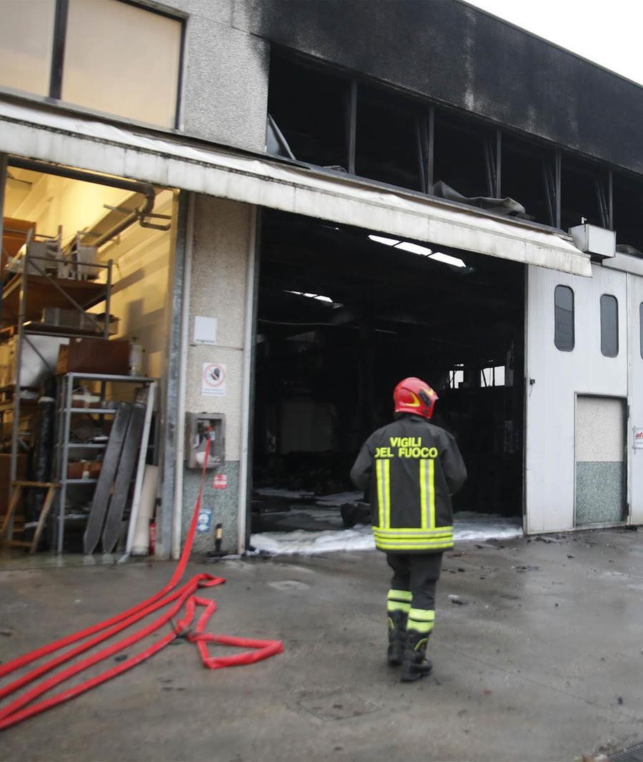
[[394,422],[368,437],[351,478],[370,491],[375,545],[393,569],[388,663],[402,664],[401,680],[410,683],[432,669],[426,644],[442,553],[453,547],[451,495],[465,483],[467,469],[452,435],[429,422],[438,395],[427,383],[403,379],[393,399]]

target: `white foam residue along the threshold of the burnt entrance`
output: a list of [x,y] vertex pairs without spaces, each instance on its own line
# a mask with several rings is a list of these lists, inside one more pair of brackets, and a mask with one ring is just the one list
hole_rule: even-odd
[[[464,540],[510,539],[522,536],[519,520],[489,514],[463,512],[455,515],[455,542]],[[372,550],[375,539],[371,527],[322,532],[265,532],[253,534],[250,544],[275,555],[326,553],[336,550]]]

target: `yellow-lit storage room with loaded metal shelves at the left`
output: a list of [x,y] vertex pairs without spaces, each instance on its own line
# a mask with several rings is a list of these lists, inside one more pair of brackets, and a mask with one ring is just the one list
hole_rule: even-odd
[[[144,452],[145,469],[152,467],[145,470],[147,491],[154,498],[158,481],[157,411],[171,303],[174,191],[135,183],[127,187],[128,181],[119,178],[101,181],[101,176],[57,166],[51,173],[56,174],[43,171],[42,162],[10,158],[2,209],[0,545],[10,546],[5,550],[13,555],[32,543],[47,499],[45,489],[25,486],[10,526],[4,527],[14,479],[56,485],[33,549],[83,550],[121,402],[132,410],[149,407],[145,431],[130,454],[137,464],[138,453]],[[85,177],[91,181],[79,179]],[[124,187],[104,184],[119,182]],[[92,377],[71,376],[72,371]],[[68,381],[72,408],[66,431]],[[117,465],[120,469],[121,462]],[[105,489],[113,494],[121,479],[122,549],[134,480],[140,482],[143,475],[139,479],[137,469],[116,473]],[[84,549],[88,552],[86,543]]]

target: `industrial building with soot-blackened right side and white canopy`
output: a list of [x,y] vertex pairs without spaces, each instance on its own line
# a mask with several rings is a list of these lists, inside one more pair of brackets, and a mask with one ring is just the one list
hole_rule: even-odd
[[[95,375],[156,389],[138,460],[160,557],[208,430],[195,547],[221,524],[243,552],[272,514],[351,489],[407,375],[468,466],[457,511],[526,533],[643,523],[639,85],[461,0],[0,0],[0,18],[2,330],[24,344],[0,355],[4,511],[16,479],[74,482],[49,534],[78,549],[102,462],[86,446],[115,428],[69,449],[52,424],[66,459],[43,461],[61,371],[21,368],[47,331],[53,365],[82,335],[43,317],[62,289],[102,315],[85,338],[140,352]],[[28,271],[37,243],[75,274]],[[97,410],[125,399],[105,383]]]

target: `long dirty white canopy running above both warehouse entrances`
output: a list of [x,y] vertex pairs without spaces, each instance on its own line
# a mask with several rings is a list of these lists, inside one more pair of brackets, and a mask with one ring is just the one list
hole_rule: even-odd
[[560,235],[529,223],[268,156],[195,148],[188,140],[149,137],[80,114],[55,114],[37,104],[0,103],[0,152],[591,276],[587,255]]

